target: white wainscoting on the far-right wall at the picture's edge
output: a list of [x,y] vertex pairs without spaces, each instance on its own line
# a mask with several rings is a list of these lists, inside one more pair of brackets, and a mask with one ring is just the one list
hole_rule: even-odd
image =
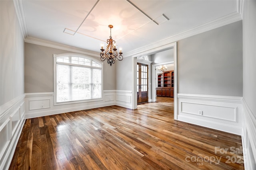
[[253,170],[256,169],[256,117],[244,99],[242,104],[244,108],[242,129],[244,168]]

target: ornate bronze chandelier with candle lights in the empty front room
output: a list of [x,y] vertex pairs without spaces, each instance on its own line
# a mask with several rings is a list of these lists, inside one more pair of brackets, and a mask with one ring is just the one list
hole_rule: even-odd
[[[116,51],[117,50],[116,49],[116,41],[114,41],[111,36],[111,28],[113,28],[113,25],[108,25],[108,27],[110,28],[110,37],[109,37],[109,39],[107,39],[108,45],[107,45],[106,51],[103,49],[103,44],[101,44],[100,60],[105,61],[107,59],[108,64],[110,64],[110,66],[112,66],[112,64],[115,63],[116,59],[121,61],[123,59],[123,56],[122,56],[122,49],[119,49],[120,52],[118,55],[118,52]],[[104,51],[105,51],[105,53],[104,53]]]

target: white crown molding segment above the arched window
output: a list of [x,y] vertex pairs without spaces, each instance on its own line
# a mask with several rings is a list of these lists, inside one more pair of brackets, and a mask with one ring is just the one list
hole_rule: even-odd
[[63,45],[63,44],[60,44],[60,43],[54,43],[54,42],[51,42],[51,41],[46,41],[46,40],[42,40],[42,39],[38,39],[38,38],[34,38],[34,37],[26,37],[24,39],[24,41],[26,43],[32,43],[32,44],[36,44],[36,45],[43,45],[43,46],[46,46],[46,47],[62,49],[62,50],[71,51],[71,52],[74,52],[74,53],[80,53],[80,54],[84,54],[84,55],[93,56],[93,57],[100,57],[100,53],[97,53],[97,52],[94,52],[94,51],[89,51],[89,50],[85,50],[85,49],[71,47],[71,46],[68,46],[68,45]]

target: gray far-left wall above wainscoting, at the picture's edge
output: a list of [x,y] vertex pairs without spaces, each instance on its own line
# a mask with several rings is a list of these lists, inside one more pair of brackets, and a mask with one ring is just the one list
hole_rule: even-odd
[[24,41],[13,1],[0,1],[0,106],[24,94]]

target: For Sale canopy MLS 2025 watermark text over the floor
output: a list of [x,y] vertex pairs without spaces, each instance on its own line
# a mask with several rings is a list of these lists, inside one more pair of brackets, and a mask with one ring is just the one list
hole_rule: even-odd
[[[215,147],[214,148],[214,153],[215,154],[242,154],[243,150],[242,147],[236,148],[236,147],[230,147],[230,148],[220,148],[220,147]],[[185,160],[186,162],[196,162],[196,164],[199,165],[204,165],[204,162],[208,162],[210,164],[220,164],[222,156],[207,156],[207,155],[202,155],[198,154],[197,156],[186,156]],[[230,163],[237,163],[237,164],[242,164],[244,163],[243,156],[226,156],[225,157],[226,164]]]

